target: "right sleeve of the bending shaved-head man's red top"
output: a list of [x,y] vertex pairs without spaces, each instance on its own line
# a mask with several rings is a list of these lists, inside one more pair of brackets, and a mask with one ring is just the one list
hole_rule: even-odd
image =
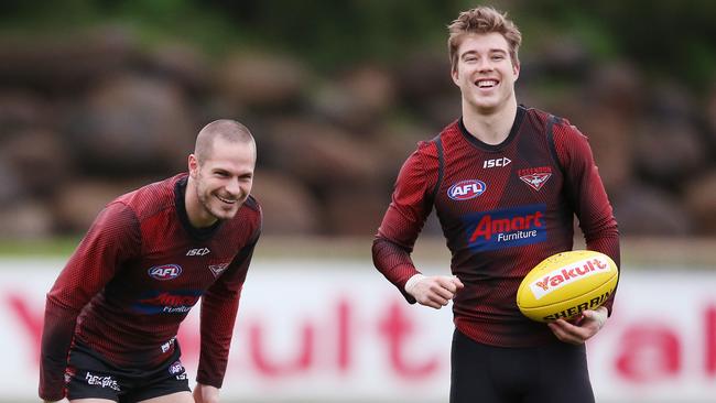
[[224,383],[241,288],[259,236],[260,230],[257,230],[226,272],[202,297],[202,349],[196,374],[198,383],[216,388],[221,388]]

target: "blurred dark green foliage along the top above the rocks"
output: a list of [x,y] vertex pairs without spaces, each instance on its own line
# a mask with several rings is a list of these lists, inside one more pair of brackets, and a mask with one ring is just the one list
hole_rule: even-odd
[[[491,1],[519,22],[525,50],[568,32],[601,57],[631,59],[654,78],[708,89],[716,70],[716,2],[710,0]],[[466,0],[153,0],[0,2],[0,35],[53,34],[95,24],[137,28],[150,43],[181,37],[208,53],[256,46],[296,55],[323,72],[356,62],[400,61],[444,46],[445,26]]]

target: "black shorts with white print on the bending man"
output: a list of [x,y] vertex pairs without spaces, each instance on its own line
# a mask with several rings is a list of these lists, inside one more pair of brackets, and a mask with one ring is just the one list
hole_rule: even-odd
[[150,370],[120,368],[78,344],[69,351],[66,371],[67,399],[109,399],[131,403],[191,391],[188,375],[180,360],[181,350]]

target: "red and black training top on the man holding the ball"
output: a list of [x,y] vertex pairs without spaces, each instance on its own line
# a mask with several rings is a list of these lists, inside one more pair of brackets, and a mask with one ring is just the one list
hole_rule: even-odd
[[[554,336],[525,318],[516,295],[543,259],[572,250],[574,216],[587,249],[619,264],[619,232],[587,138],[565,119],[518,108],[508,138],[477,140],[462,120],[421,142],[400,171],[373,242],[378,270],[405,296],[410,253],[433,206],[465,284],[454,299],[456,327],[491,346],[539,346]],[[614,294],[607,302],[611,311]]]

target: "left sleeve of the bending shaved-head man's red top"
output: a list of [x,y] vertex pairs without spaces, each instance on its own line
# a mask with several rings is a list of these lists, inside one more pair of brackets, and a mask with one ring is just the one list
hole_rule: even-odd
[[141,235],[133,211],[108,205],[97,217],[47,293],[40,360],[40,397],[64,397],[64,374],[77,316],[129,259]]

